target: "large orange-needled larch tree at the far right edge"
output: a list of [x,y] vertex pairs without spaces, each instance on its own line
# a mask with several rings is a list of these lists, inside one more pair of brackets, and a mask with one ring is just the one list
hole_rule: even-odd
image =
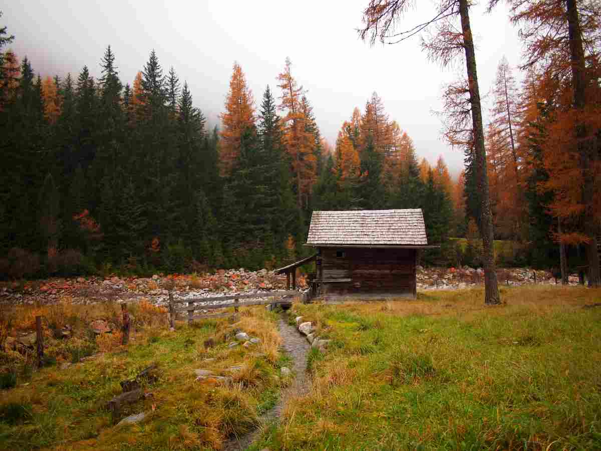
[[[490,0],[489,8],[499,0]],[[523,67],[545,73],[543,97],[554,98],[542,160],[554,193],[549,209],[573,224],[557,239],[584,244],[589,285],[601,286],[597,240],[601,224],[601,4],[596,0],[508,0],[511,21],[522,26]]]

